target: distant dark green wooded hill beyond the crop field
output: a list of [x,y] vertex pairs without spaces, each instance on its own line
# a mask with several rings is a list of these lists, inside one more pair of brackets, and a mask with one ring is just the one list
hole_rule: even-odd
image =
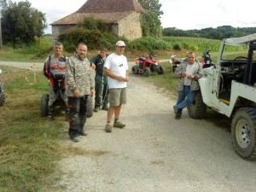
[[233,27],[233,26],[218,26],[217,28],[204,28],[181,30],[176,27],[168,27],[163,29],[163,36],[172,37],[191,37],[191,38],[236,38],[256,33],[256,27]]

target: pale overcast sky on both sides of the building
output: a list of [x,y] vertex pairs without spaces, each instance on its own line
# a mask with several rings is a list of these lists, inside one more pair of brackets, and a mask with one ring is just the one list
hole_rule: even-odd
[[[12,0],[20,2],[21,0]],[[77,11],[87,0],[28,0],[50,24]],[[164,28],[256,27],[256,0],[160,0]],[[51,33],[51,26],[45,30]]]

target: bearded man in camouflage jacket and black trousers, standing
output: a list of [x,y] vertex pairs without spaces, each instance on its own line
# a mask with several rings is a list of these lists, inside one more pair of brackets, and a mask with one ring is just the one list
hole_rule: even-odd
[[73,142],[79,142],[79,136],[86,136],[86,105],[88,96],[94,94],[95,73],[86,57],[87,46],[80,43],[76,53],[66,62],[67,96],[69,111],[68,135]]

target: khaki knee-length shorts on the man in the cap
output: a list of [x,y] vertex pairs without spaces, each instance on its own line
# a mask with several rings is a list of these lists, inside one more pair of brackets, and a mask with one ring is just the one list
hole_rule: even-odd
[[109,89],[109,106],[126,104],[126,87],[121,89]]

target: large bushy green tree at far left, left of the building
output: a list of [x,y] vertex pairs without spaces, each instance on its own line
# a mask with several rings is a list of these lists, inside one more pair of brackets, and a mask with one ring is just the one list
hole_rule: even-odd
[[1,1],[3,43],[31,44],[35,38],[44,35],[47,27],[45,14],[33,9],[31,3],[25,2],[8,4]]

